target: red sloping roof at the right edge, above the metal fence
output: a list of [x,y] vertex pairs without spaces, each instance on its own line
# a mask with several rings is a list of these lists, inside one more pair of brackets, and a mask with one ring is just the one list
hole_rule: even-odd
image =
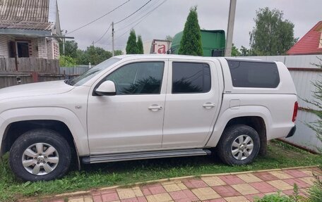
[[321,54],[322,46],[322,21],[318,22],[307,32],[304,37],[299,39],[299,42],[294,44],[290,50],[287,51],[288,55],[306,55],[306,54]]

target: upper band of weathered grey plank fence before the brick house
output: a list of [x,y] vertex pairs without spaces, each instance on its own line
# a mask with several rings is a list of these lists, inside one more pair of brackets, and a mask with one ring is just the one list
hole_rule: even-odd
[[59,60],[45,58],[0,58],[0,72],[46,72],[59,74]]

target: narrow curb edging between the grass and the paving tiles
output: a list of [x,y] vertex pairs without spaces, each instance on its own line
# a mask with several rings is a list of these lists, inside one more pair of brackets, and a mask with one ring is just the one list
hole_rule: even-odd
[[[247,173],[254,173],[254,172],[268,172],[268,171],[282,171],[282,170],[293,170],[293,169],[303,169],[303,168],[318,168],[319,165],[310,165],[310,166],[299,166],[299,167],[291,167],[291,168],[277,168],[277,169],[268,169],[268,170],[251,170],[251,171],[244,171],[244,172],[225,172],[225,173],[216,173],[216,174],[204,174],[204,175],[198,175],[198,177],[215,177],[215,176],[222,176],[222,175],[238,175],[238,174],[247,174]],[[47,198],[61,198],[64,196],[68,196],[68,197],[73,197],[73,196],[79,196],[79,195],[85,195],[85,194],[89,194],[93,191],[105,191],[105,190],[109,190],[109,189],[117,189],[117,188],[122,188],[124,186],[126,187],[134,187],[136,185],[141,185],[141,184],[155,184],[158,182],[169,182],[169,181],[175,181],[178,179],[190,179],[190,178],[194,178],[196,176],[193,175],[189,175],[189,176],[184,176],[184,177],[172,177],[172,178],[167,178],[167,179],[155,179],[155,180],[149,180],[149,181],[145,181],[145,182],[136,182],[133,184],[125,184],[125,185],[117,185],[117,186],[113,186],[113,187],[104,187],[104,188],[100,188],[100,189],[93,189],[93,190],[89,190],[89,191],[76,191],[76,192],[71,192],[71,193],[66,193],[66,194],[56,194],[54,196],[44,196],[41,197],[43,199],[47,199]],[[37,197],[39,198],[39,197]],[[26,198],[26,199],[21,199],[19,201],[30,201],[32,200],[32,198]]]

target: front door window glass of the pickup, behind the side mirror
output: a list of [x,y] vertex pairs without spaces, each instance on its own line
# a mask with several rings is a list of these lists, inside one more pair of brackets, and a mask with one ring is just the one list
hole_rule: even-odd
[[105,80],[111,80],[122,94],[160,94],[163,62],[131,63],[115,70]]

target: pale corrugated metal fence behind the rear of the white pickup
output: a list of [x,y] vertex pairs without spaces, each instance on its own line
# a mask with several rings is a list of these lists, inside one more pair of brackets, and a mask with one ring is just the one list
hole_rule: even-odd
[[[238,57],[238,58],[251,58],[261,59],[264,61],[280,61],[285,63],[289,68],[295,87],[297,89],[297,95],[299,97],[298,102],[301,108],[314,108],[309,103],[303,101],[303,99],[314,100],[312,91],[315,90],[312,82],[322,79],[322,69],[316,67],[314,64],[319,64],[321,61],[318,58],[322,58],[322,55],[309,55],[309,56],[252,56],[252,57]],[[292,144],[305,147],[317,151],[317,148],[322,148],[322,143],[316,137],[313,130],[307,127],[305,124],[316,121],[317,116],[305,110],[299,110],[297,114],[297,131],[293,137],[285,139]]]

